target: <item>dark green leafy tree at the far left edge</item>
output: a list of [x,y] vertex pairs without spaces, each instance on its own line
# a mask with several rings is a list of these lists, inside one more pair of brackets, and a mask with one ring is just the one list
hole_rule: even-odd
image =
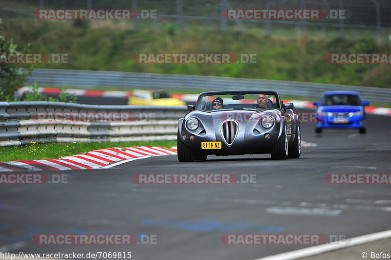
[[0,35],[0,101],[14,101],[16,88],[22,87],[33,71],[31,64],[14,65],[3,61],[5,54],[29,53],[30,51],[30,43],[20,51],[17,47],[12,39],[6,41],[4,36]]

